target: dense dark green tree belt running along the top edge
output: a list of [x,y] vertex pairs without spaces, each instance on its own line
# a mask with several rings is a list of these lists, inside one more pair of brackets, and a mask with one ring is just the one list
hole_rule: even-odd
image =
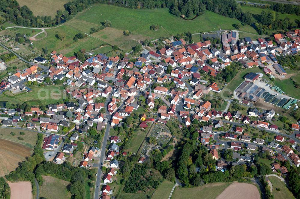
[[[16,25],[26,27],[55,26],[66,20],[72,19],[77,13],[82,12],[89,5],[95,3],[112,4],[135,9],[168,7],[170,9],[170,13],[176,16],[184,15],[187,18],[201,15],[205,12],[205,10],[209,10],[222,16],[238,19],[244,24],[252,25],[254,22],[254,18],[249,12],[242,12],[238,3],[230,0],[75,0],[64,4],[65,10],[57,10],[57,14],[54,18],[51,18],[51,16],[35,17],[26,5],[20,7],[16,0],[1,0],[0,11],[4,13],[4,18],[1,18],[0,22],[4,23],[5,21],[10,21]],[[276,3],[271,5],[271,9],[283,14],[300,14],[300,7],[291,4]],[[263,25],[263,23],[255,25],[256,30],[260,34],[263,34],[264,30],[266,30],[266,27]],[[289,27],[290,23],[286,22],[286,19],[276,19],[272,24],[268,24],[267,27],[269,25],[272,25],[273,29],[285,29],[284,27]],[[91,30],[91,32],[94,31],[95,30]]]

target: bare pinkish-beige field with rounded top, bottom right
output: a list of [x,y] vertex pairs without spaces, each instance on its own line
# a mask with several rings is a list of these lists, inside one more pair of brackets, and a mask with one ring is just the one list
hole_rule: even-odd
[[260,199],[256,186],[248,183],[232,183],[216,199]]

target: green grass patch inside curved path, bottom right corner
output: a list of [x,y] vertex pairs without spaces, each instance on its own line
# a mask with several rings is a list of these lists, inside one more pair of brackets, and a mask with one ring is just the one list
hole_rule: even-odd
[[[272,186],[273,186],[272,195],[274,195],[274,199],[295,198],[293,196],[292,192],[289,191],[289,189],[286,187],[286,185],[279,178],[277,178],[275,176],[269,176],[268,178],[271,181]],[[277,191],[276,188],[279,188],[280,191]]]

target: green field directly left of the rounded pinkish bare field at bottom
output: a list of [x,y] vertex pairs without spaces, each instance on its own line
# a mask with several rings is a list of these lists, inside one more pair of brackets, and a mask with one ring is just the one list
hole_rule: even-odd
[[222,193],[230,184],[231,183],[209,183],[188,189],[176,186],[172,194],[172,199],[199,198],[200,196],[202,199],[214,199],[217,198],[217,196],[220,195],[220,193]]

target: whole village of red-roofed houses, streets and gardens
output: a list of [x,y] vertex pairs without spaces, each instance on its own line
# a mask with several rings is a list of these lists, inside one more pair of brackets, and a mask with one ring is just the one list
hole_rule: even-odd
[[[220,37],[212,44],[172,36],[132,57],[82,60],[55,50],[50,59],[36,57],[0,84],[1,129],[42,133],[46,161],[96,169],[95,198],[116,197],[130,160],[142,171],[157,153],[172,160],[185,137],[213,160],[197,163],[196,173],[262,162],[286,178],[300,165],[299,90],[284,92],[274,79],[293,77],[279,62],[298,56],[300,30],[271,39],[224,30]],[[176,174],[179,180],[188,181]]]

